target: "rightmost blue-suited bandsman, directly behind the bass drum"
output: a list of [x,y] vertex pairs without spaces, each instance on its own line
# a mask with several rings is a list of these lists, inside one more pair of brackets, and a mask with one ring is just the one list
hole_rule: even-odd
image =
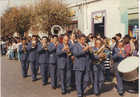
[[117,48],[114,51],[114,55],[112,56],[112,59],[114,60],[114,70],[116,71],[116,78],[117,78],[116,88],[120,96],[123,96],[123,83],[120,74],[118,72],[117,66],[124,58],[126,58],[126,54],[125,51],[123,50],[123,42],[119,41],[117,43]]

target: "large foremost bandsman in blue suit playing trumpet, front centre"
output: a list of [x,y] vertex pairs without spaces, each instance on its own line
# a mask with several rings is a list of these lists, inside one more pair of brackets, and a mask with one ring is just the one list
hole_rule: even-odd
[[81,34],[79,36],[79,42],[77,42],[73,47],[74,54],[74,65],[73,70],[75,70],[76,88],[78,97],[83,97],[84,91],[88,85],[89,81],[89,46],[85,46],[86,36]]

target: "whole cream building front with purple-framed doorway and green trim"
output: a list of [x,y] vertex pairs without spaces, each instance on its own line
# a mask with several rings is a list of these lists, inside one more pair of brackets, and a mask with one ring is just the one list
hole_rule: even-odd
[[[72,21],[86,35],[99,33],[109,38],[116,33],[131,35],[132,27],[138,25],[138,0],[82,0],[69,7],[74,12]],[[72,27],[76,28],[71,23],[68,31]]]

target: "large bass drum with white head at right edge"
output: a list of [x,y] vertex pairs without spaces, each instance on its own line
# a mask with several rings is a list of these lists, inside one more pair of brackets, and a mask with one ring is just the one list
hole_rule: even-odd
[[121,61],[118,65],[118,71],[121,74],[122,79],[125,81],[134,81],[139,78],[139,58],[128,57]]

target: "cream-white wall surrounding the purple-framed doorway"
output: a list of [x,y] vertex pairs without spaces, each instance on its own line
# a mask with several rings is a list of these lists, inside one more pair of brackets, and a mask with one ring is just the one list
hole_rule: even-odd
[[[87,0],[88,1],[88,0]],[[101,0],[88,3],[84,5],[83,11],[76,12],[78,14],[78,28],[86,35],[91,33],[91,13],[101,10],[106,10],[106,36],[111,38],[115,36],[116,33],[122,33],[125,35],[125,24],[121,23],[120,15],[120,4],[119,0]],[[73,7],[76,9],[75,7]],[[72,8],[72,10],[73,10]],[[82,7],[77,6],[77,9]],[[86,13],[87,8],[87,13]],[[83,22],[84,20],[84,22]],[[83,26],[84,25],[84,26]]]

